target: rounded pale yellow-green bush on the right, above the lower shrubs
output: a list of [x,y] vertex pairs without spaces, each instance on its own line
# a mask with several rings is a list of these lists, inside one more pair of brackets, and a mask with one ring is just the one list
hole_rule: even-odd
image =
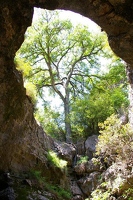
[[116,115],[111,115],[99,127],[98,155],[104,155],[107,161],[108,158],[111,161],[133,159],[133,131],[129,124],[123,125]]

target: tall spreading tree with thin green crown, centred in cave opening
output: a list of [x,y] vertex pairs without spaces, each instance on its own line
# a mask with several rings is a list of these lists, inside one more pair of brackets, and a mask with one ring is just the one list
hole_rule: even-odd
[[19,55],[32,66],[28,78],[45,99],[45,87],[60,97],[64,106],[66,141],[71,141],[70,102],[89,89],[99,58],[105,55],[102,37],[88,27],[60,20],[58,12],[45,11],[25,35]]

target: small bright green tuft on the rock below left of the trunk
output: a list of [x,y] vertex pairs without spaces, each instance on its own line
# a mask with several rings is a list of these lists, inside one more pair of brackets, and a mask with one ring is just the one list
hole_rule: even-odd
[[67,161],[60,159],[57,154],[53,151],[49,151],[47,155],[48,161],[50,161],[54,166],[65,169],[67,166]]

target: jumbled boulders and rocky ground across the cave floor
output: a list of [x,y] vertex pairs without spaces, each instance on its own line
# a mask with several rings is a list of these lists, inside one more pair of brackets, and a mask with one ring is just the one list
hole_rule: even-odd
[[55,142],[54,151],[67,161],[61,169],[49,161],[52,176],[38,169],[21,174],[1,172],[1,200],[131,200],[133,199],[132,165],[113,163],[107,166],[102,157],[94,157],[97,136],[76,145]]

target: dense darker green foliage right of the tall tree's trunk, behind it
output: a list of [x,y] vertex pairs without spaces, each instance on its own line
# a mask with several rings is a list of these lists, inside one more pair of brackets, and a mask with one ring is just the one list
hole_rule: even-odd
[[71,104],[73,137],[98,134],[98,123],[104,122],[113,113],[126,114],[128,106],[127,80],[121,60],[110,66],[110,70],[93,80],[90,92]]

